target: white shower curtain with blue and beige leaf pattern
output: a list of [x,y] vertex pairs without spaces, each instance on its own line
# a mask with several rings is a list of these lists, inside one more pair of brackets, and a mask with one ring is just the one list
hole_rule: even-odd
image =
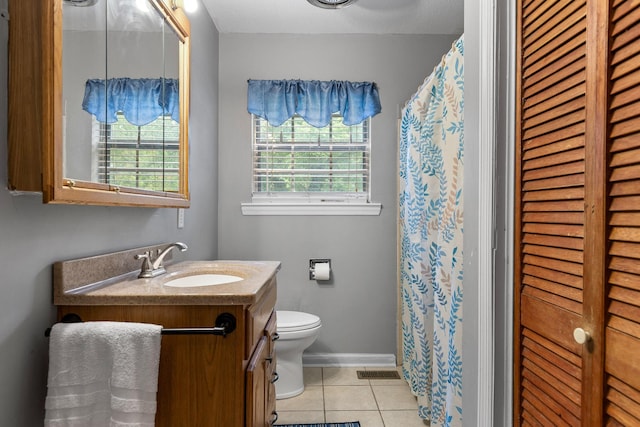
[[462,425],[464,42],[402,112],[402,372],[431,426]]

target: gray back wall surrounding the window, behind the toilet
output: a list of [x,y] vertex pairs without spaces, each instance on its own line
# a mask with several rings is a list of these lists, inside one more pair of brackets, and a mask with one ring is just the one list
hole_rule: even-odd
[[[456,36],[220,36],[221,258],[274,259],[278,309],[320,316],[311,353],[395,354],[398,108]],[[251,195],[247,79],[374,81],[382,113],[371,121],[372,198],[380,216],[243,216]],[[333,283],[308,277],[310,258],[331,258]]]

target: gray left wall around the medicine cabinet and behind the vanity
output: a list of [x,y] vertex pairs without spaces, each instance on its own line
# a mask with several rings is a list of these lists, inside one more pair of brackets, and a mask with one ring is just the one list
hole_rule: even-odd
[[43,205],[9,194],[8,24],[0,19],[0,426],[42,425],[53,262],[176,240],[189,245],[178,259],[217,258],[218,32],[206,13],[191,16],[191,30],[192,207],[178,230],[175,209]]

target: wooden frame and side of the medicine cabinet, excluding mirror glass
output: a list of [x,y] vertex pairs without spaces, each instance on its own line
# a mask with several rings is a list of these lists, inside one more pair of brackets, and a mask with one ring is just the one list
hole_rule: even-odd
[[10,0],[9,189],[42,192],[43,203],[189,207],[188,120],[190,24],[182,9],[148,0],[180,40],[180,183],[163,192],[64,176],[62,2]]

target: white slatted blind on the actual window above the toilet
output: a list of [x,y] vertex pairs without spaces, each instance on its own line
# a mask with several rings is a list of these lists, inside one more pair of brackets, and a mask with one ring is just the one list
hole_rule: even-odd
[[369,119],[346,126],[334,114],[324,128],[297,115],[277,127],[252,120],[254,202],[369,202]]

